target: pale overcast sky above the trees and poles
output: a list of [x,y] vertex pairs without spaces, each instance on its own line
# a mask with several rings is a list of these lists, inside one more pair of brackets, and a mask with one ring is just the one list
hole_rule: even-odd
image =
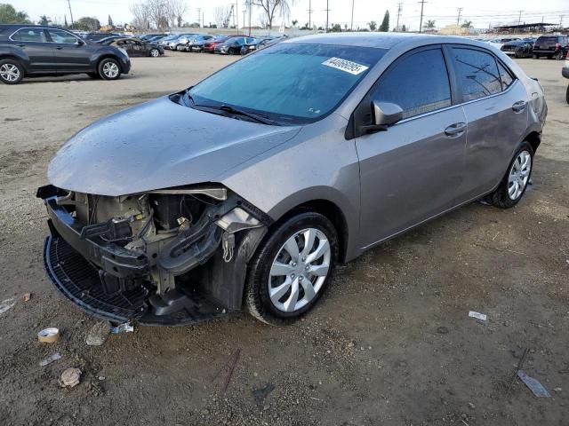
[[[73,17],[78,19],[82,16],[94,16],[101,23],[106,23],[108,14],[111,15],[115,24],[129,22],[132,18],[129,6],[137,0],[69,0]],[[233,0],[234,3],[236,0]],[[399,25],[405,24],[407,28],[416,30],[419,28],[421,4],[417,1],[401,1],[401,17]],[[28,12],[32,20],[38,20],[40,15],[47,15],[56,22],[63,22],[67,14],[69,21],[68,0],[0,0],[1,3],[10,3],[16,9]],[[244,0],[238,2],[239,25],[243,26]],[[230,4],[231,0],[188,0],[188,12],[184,20],[194,22],[197,20],[197,9],[204,12],[204,22],[214,22],[213,9],[216,5]],[[326,0],[311,0],[312,20],[319,26],[325,26]],[[456,23],[458,7],[462,7],[461,21],[471,20],[475,28],[488,28],[489,25],[517,24],[519,11],[522,22],[553,22],[563,20],[564,26],[569,26],[569,1],[568,0],[477,0],[476,7],[470,4],[475,2],[466,0],[428,0],[424,4],[425,20],[435,20],[437,28]],[[296,0],[293,2],[290,20],[298,20],[300,25],[309,21],[309,0]],[[328,0],[329,21],[350,25],[351,0]],[[367,22],[375,20],[378,23],[383,19],[383,14],[389,10],[391,19],[390,28],[395,27],[397,20],[397,0],[381,2],[378,0],[354,0],[354,28],[366,27]],[[563,18],[561,15],[565,15]],[[259,23],[260,9],[252,12],[252,22]],[[274,25],[280,24],[282,19],[276,20]],[[254,24],[253,24],[254,25]]]

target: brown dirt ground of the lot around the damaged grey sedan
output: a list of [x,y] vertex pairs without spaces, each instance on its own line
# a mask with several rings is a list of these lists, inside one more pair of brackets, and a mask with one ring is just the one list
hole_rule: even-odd
[[[95,320],[44,275],[35,192],[52,154],[101,116],[230,60],[169,53],[133,59],[132,75],[116,82],[0,87],[0,303],[15,297],[0,314],[0,423],[569,424],[569,81],[555,60],[519,60],[544,86],[549,116],[533,186],[515,209],[473,203],[373,249],[342,266],[291,327],[240,314],[85,344]],[[44,327],[60,327],[60,342],[37,343]],[[525,372],[551,398],[512,381],[525,348]],[[39,366],[55,352],[62,359]],[[57,383],[67,367],[83,371],[71,390]]]

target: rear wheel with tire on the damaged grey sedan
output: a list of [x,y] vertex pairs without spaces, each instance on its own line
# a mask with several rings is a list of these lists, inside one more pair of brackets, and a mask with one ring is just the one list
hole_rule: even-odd
[[499,209],[514,207],[524,196],[532,177],[532,169],[533,148],[524,142],[509,163],[508,171],[501,184],[493,193],[485,197],[485,201]]

